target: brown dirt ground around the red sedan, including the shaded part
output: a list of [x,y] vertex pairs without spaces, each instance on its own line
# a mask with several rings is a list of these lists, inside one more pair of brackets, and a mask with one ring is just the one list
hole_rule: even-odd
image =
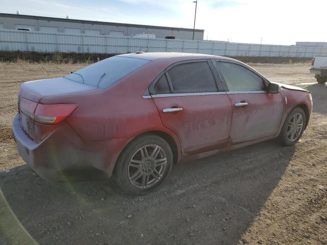
[[82,66],[0,63],[0,244],[327,244],[327,86],[309,63],[253,64],[312,92],[310,125],[295,147],[271,140],[177,165],[141,198],[111,180],[44,181],[17,154],[20,84]]

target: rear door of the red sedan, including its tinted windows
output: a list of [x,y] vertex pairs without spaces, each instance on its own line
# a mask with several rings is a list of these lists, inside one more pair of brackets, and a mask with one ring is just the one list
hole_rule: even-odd
[[214,70],[209,60],[180,62],[161,72],[149,88],[162,124],[177,135],[183,155],[228,144],[231,104]]

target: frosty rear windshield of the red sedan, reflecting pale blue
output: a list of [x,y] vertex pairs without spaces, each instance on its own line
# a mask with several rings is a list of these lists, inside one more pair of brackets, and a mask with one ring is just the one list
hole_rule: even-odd
[[98,88],[107,88],[148,62],[149,60],[138,58],[110,57],[73,72],[65,78]]

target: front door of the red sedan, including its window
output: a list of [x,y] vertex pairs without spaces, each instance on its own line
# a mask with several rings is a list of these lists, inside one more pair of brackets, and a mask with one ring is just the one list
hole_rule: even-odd
[[243,64],[215,61],[232,106],[230,145],[274,136],[281,124],[281,93],[265,91],[265,80]]

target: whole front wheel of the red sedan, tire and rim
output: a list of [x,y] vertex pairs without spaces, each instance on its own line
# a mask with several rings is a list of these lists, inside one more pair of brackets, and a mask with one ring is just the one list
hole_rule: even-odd
[[303,109],[296,107],[287,116],[279,141],[284,145],[294,145],[301,138],[306,127],[306,114]]

